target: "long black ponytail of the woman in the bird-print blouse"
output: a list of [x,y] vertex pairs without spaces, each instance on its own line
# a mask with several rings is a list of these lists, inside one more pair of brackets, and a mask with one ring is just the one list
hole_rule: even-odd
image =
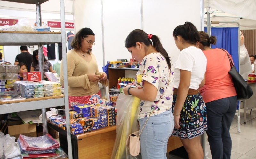
[[153,47],[166,59],[166,62],[170,69],[171,68],[171,62],[170,62],[171,57],[169,57],[168,53],[163,48],[163,45],[161,44],[159,37],[156,35],[153,35],[151,39],[153,42]]

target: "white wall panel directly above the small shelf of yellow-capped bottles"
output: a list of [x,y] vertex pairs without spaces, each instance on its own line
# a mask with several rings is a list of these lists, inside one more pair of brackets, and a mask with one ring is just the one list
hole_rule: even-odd
[[134,29],[140,29],[140,0],[103,1],[105,63],[130,59],[125,39]]

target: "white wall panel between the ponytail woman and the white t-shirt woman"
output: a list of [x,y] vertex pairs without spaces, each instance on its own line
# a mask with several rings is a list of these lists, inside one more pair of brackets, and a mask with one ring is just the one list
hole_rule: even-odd
[[172,33],[176,26],[186,21],[192,22],[200,30],[200,0],[143,0],[144,31],[160,37],[173,63],[180,50],[175,45]]

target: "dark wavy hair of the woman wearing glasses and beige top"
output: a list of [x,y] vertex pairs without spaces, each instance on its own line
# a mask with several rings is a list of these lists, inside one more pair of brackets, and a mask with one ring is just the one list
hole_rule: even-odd
[[[71,42],[71,47],[76,49],[76,50],[81,49],[81,47],[82,47],[82,38],[86,38],[86,37],[88,37],[88,35],[95,35],[93,33],[92,29],[90,29],[88,27],[85,27],[85,28],[79,30],[76,33],[74,39]],[[88,52],[91,53],[92,49],[90,49]]]

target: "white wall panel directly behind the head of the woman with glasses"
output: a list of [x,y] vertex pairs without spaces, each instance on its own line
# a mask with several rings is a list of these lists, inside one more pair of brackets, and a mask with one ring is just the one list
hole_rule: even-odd
[[99,71],[102,71],[101,0],[75,0],[74,17],[75,34],[84,27],[89,27],[94,32],[95,45],[92,47],[92,53],[97,58]]

